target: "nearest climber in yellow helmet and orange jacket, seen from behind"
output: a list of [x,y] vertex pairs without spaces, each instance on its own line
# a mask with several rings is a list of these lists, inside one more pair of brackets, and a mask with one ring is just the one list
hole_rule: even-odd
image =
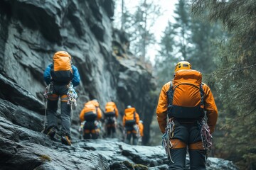
[[[206,111],[207,123],[204,120]],[[185,169],[188,147],[191,169],[206,169],[206,153],[218,118],[213,94],[189,62],[178,62],[174,79],[164,84],[156,108],[169,169]],[[167,118],[168,116],[168,118]]]

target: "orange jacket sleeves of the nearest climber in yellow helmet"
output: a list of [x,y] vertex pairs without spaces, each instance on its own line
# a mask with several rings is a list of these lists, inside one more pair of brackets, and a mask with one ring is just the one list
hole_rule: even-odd
[[[161,89],[160,95],[159,95],[159,102],[156,108],[156,118],[159,123],[159,128],[162,133],[165,132],[165,128],[167,125],[167,107],[168,107],[168,96],[167,91],[169,91],[171,86],[171,81],[164,84],[164,86]],[[203,84],[203,103],[204,103],[204,110],[206,111],[207,116],[207,123],[210,127],[210,133],[214,132],[215,125],[217,123],[218,118],[218,110],[217,106],[215,105],[215,101],[213,98],[213,94],[210,91],[210,88]]]

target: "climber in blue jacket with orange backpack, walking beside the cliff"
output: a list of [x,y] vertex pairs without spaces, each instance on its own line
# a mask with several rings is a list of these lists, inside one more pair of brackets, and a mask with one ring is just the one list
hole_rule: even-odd
[[[53,55],[53,63],[46,67],[43,78],[48,84],[47,128],[45,133],[54,137],[58,130],[58,99],[60,98],[61,142],[71,145],[70,137],[70,106],[77,97],[73,86],[80,84],[80,75],[77,67],[72,64],[68,52],[58,51]],[[70,91],[73,95],[69,96]],[[75,96],[75,97],[74,97]],[[74,97],[74,98],[70,98]],[[76,103],[75,103],[76,104]]]

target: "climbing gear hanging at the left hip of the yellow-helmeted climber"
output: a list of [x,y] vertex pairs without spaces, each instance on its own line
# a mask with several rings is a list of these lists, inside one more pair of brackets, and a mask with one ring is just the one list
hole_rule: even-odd
[[166,127],[166,131],[165,131],[164,135],[162,136],[162,146],[166,150],[166,154],[168,154],[168,157],[170,158],[172,163],[174,163],[174,161],[171,159],[171,150],[170,149],[171,149],[171,147],[173,147],[173,145],[171,144],[170,139],[174,137],[174,128],[175,128],[174,119],[169,118],[167,127]]

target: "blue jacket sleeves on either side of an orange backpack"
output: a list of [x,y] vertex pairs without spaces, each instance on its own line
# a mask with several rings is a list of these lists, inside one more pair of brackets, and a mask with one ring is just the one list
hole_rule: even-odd
[[[46,84],[50,84],[50,81],[52,79],[50,78],[50,69],[53,68],[53,64],[49,64],[48,67],[46,67],[45,72],[43,73],[43,79],[46,81]],[[73,79],[72,79],[72,84],[73,86],[78,86],[80,84],[80,74],[78,72],[78,68],[72,65],[73,69]]]

